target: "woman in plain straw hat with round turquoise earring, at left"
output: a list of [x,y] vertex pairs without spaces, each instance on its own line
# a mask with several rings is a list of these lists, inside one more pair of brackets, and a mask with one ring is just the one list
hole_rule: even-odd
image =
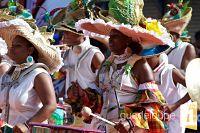
[[56,108],[49,74],[60,68],[60,52],[21,19],[0,25],[0,36],[14,62],[0,78],[2,119],[14,132],[28,132],[30,122],[47,122]]

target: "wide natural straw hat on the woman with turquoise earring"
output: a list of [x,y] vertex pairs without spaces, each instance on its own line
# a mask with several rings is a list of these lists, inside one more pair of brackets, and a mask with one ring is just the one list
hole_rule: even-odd
[[[5,23],[4,23],[5,24]],[[8,47],[12,46],[13,39],[21,36],[27,39],[38,52],[38,62],[44,63],[52,73],[58,70],[62,63],[61,52],[59,49],[47,43],[46,39],[35,30],[24,25],[3,25],[0,23],[0,37],[2,37]]]

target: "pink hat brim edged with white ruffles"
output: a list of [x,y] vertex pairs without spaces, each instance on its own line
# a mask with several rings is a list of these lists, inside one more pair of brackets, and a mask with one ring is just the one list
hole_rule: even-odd
[[131,37],[133,40],[142,44],[143,48],[152,48],[155,45],[169,45],[174,47],[174,42],[171,40],[170,34],[162,27],[163,34],[160,36],[154,31],[146,30],[140,26],[131,26],[124,24],[113,24],[105,22],[102,19],[82,19],[76,23],[76,29],[82,30],[85,35],[89,36],[110,36],[112,29],[117,29],[124,35]]

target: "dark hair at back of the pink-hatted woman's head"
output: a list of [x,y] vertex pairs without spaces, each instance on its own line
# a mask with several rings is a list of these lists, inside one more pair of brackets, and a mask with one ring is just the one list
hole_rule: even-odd
[[131,41],[128,47],[132,50],[132,54],[139,54],[143,50],[142,45],[137,41]]

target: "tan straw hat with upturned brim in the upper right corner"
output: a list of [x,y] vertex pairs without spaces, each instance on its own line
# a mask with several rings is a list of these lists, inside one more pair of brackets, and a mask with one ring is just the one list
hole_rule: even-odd
[[162,24],[170,32],[175,32],[181,35],[184,29],[187,27],[188,23],[190,22],[191,17],[192,17],[192,8],[188,7],[180,19],[164,21],[163,18]]

